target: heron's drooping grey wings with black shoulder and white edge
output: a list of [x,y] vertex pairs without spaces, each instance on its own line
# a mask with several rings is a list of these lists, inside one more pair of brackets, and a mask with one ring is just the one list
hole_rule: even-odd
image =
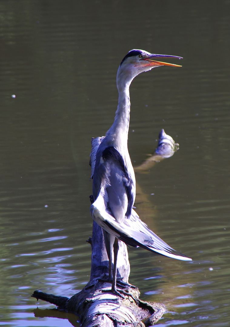
[[99,146],[97,149],[93,192],[95,201],[90,212],[106,232],[133,247],[142,247],[178,260],[192,260],[152,232],[132,209],[135,198],[133,181],[122,156],[114,147],[100,149]]

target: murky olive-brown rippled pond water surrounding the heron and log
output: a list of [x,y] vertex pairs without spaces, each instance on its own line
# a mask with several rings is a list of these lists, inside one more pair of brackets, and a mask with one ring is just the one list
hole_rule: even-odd
[[129,249],[130,283],[166,305],[158,326],[229,326],[230,2],[8,0],[0,13],[0,325],[78,325],[30,296],[89,281],[90,141],[111,126],[117,68],[139,48],[184,59],[131,85],[133,165],[162,128],[180,144],[136,174],[136,211],[193,261]]

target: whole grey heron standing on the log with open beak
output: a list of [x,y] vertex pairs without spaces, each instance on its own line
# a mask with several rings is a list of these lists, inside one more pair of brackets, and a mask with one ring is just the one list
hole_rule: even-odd
[[[105,246],[109,258],[109,280],[112,291],[116,290],[116,260],[118,239],[133,247],[144,249],[178,260],[192,260],[172,249],[152,232],[133,209],[136,195],[135,175],[128,152],[130,120],[129,87],[134,77],[159,66],[180,65],[157,61],[158,58],[182,57],[151,54],[133,49],[121,61],[116,83],[119,93],[114,123],[106,132],[97,148],[93,171],[92,218],[103,228]],[[112,273],[112,252],[114,270]]]

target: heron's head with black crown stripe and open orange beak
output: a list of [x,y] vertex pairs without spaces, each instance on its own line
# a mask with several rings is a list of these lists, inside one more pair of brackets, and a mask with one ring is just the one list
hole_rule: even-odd
[[117,87],[124,87],[124,83],[130,85],[133,78],[142,72],[147,72],[148,70],[159,67],[159,66],[173,66],[181,67],[180,65],[175,65],[173,63],[158,61],[158,58],[178,58],[182,57],[170,56],[170,55],[155,55],[144,50],[133,49],[127,53],[117,72]]

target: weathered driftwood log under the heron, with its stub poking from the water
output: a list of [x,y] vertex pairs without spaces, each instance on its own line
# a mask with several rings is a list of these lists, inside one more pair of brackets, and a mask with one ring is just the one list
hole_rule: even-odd
[[[151,165],[163,158],[171,156],[178,145],[168,136],[164,130],[159,135],[159,144],[155,152],[155,158],[148,160],[146,166]],[[163,140],[163,142],[161,142]],[[92,140],[91,166],[94,170],[95,153],[101,138]],[[164,151],[165,148],[165,151]],[[161,154],[159,154],[161,151]],[[169,154],[170,153],[170,154]],[[143,171],[146,166],[137,167],[137,171]],[[104,244],[102,229],[94,222],[92,238],[88,240],[92,248],[92,265],[89,283],[70,299],[62,296],[47,294],[42,291],[34,291],[32,297],[37,300],[44,300],[55,304],[58,311],[35,310],[38,317],[50,316],[60,317],[60,310],[67,313],[74,313],[79,317],[82,327],[116,327],[116,326],[151,326],[155,324],[165,312],[163,305],[150,303],[139,299],[137,287],[129,284],[130,264],[128,259],[127,246],[119,241],[117,258],[117,288],[121,293],[115,295],[111,292],[111,283],[107,282],[109,261]],[[45,312],[45,313],[44,313]],[[65,318],[69,318],[68,315]],[[73,316],[69,321],[75,326]]]

